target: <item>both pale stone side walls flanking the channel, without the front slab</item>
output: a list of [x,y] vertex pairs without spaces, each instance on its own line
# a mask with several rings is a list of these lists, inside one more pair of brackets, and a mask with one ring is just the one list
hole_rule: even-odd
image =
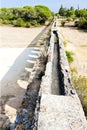
[[52,84],[52,67],[53,67],[53,58],[54,58],[54,31],[56,31],[56,35],[58,38],[59,44],[59,64],[60,64],[60,80],[61,84],[64,87],[64,95],[69,95],[70,93],[74,94],[74,90],[72,90],[72,83],[71,83],[71,77],[70,77],[70,70],[69,70],[69,64],[67,61],[67,57],[65,54],[64,45],[62,43],[62,40],[60,38],[59,32],[57,30],[57,27],[54,26],[55,22],[52,25],[51,28],[51,37],[50,37],[50,46],[48,49],[48,63],[46,65],[46,71],[45,75],[42,78],[41,83],[41,89],[42,93],[51,94],[51,84]]

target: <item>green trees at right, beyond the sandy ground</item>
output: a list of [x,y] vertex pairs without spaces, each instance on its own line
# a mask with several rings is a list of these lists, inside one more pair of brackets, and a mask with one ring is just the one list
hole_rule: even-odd
[[[80,29],[87,29],[87,9],[74,9],[72,6],[67,9],[61,5],[58,15],[66,17],[67,21],[76,20],[75,26]],[[63,24],[64,22],[62,22]],[[65,24],[65,23],[64,23]]]

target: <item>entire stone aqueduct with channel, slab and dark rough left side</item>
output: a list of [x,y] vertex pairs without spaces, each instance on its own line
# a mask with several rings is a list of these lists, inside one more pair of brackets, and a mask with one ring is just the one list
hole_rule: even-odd
[[[47,30],[49,30],[48,28]],[[44,35],[48,34],[47,30]],[[34,77],[32,78],[33,83],[30,82],[28,85],[16,117],[15,128],[11,126],[11,129],[87,130],[87,121],[80,100],[72,86],[69,65],[56,20],[50,30],[49,46],[44,47],[47,60],[45,58],[45,61],[42,59],[37,61],[35,71],[31,74]],[[48,41],[44,41],[44,43]],[[42,65],[44,63],[45,69]],[[43,71],[45,71],[44,75]],[[38,78],[39,76],[40,78]],[[32,87],[34,88],[31,89]],[[29,94],[31,91],[33,97]],[[27,103],[27,105],[23,103]],[[32,112],[33,107],[35,108]]]

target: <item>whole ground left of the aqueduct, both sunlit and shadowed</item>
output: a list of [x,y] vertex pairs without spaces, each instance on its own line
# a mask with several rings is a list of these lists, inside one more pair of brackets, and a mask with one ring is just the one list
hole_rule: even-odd
[[15,120],[29,74],[40,54],[38,48],[28,45],[36,41],[43,29],[0,26],[0,109],[11,122]]

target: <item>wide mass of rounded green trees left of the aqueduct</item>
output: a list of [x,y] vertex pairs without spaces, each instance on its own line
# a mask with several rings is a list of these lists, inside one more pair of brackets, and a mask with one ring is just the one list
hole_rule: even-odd
[[22,8],[1,8],[0,23],[13,24],[14,26],[38,26],[44,24],[46,20],[52,20],[51,10],[42,5],[24,6]]

